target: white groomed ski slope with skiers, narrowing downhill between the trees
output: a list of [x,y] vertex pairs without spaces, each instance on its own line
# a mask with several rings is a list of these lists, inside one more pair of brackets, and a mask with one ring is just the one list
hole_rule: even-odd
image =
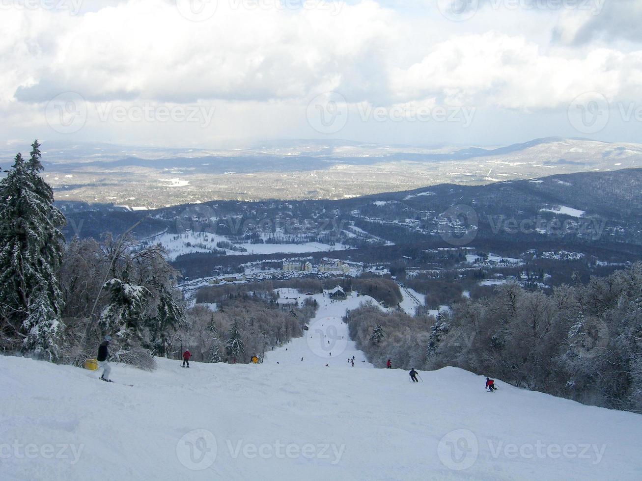
[[483,377],[453,367],[413,384],[404,370],[362,363],[347,339],[341,316],[366,298],[315,298],[309,330],[264,364],[158,359],[152,373],[114,365],[123,384],[108,384],[0,357],[0,478],[642,478],[642,416],[501,381],[489,393]]

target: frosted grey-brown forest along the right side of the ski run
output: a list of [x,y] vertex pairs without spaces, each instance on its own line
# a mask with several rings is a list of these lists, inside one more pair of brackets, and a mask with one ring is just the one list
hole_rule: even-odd
[[451,307],[435,319],[363,306],[344,321],[377,367],[387,359],[406,369],[456,366],[525,389],[642,412],[642,263],[548,295],[507,282]]

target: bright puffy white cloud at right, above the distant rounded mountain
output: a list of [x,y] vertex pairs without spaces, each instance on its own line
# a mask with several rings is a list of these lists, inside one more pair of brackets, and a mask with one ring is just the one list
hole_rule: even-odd
[[447,105],[528,111],[566,107],[584,92],[622,101],[641,92],[631,79],[642,75],[642,51],[594,49],[573,56],[569,49],[542,50],[524,37],[492,31],[453,37],[433,46],[421,62],[392,69],[392,90],[403,100],[434,96]]

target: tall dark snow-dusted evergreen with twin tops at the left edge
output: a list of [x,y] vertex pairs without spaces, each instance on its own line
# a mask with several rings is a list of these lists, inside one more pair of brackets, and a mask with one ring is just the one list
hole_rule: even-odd
[[22,351],[56,360],[65,218],[53,206],[53,190],[38,174],[38,142],[32,147],[31,159],[25,162],[16,155],[0,181],[0,322],[3,332],[21,341]]

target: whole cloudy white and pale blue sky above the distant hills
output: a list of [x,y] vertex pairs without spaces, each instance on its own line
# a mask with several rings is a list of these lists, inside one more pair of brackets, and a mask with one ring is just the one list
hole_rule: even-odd
[[0,0],[0,142],[641,142],[641,24],[641,0]]

